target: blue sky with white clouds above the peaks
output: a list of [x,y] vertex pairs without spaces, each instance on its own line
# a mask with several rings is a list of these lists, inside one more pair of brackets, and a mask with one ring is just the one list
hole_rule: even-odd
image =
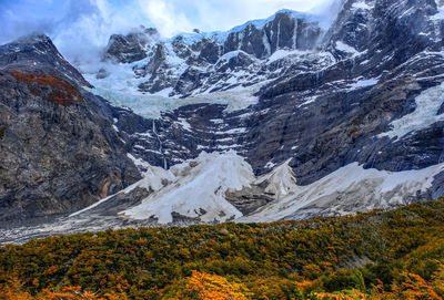
[[332,0],[0,0],[0,43],[40,31],[71,61],[102,49],[112,33],[143,24],[164,37],[228,30],[282,8],[313,11]]

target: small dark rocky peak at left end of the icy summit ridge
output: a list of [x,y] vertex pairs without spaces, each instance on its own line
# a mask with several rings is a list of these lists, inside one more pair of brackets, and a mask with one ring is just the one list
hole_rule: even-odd
[[107,46],[105,60],[130,63],[148,56],[151,46],[159,40],[159,32],[153,28],[140,28],[128,35],[113,34]]

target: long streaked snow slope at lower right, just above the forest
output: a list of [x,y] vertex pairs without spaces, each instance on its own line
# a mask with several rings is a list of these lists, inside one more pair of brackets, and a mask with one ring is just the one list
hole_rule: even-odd
[[291,190],[287,196],[238,221],[304,219],[405,205],[426,193],[432,187],[434,177],[443,170],[444,164],[417,170],[386,172],[364,169],[353,163],[311,185]]

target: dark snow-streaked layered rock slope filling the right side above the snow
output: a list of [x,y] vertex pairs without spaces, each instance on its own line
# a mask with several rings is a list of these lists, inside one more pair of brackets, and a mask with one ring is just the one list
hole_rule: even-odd
[[[390,9],[390,13],[385,11],[394,6],[396,9]],[[99,94],[140,113],[147,111],[143,106],[160,105],[159,110],[165,111],[205,101],[229,104],[228,108],[196,105],[162,113],[155,124],[165,141],[162,156],[168,165],[196,157],[202,149],[231,148],[246,157],[255,173],[270,170],[265,166],[293,157],[290,165],[301,184],[313,183],[353,162],[390,170],[427,167],[440,162],[443,151],[440,118],[431,118],[434,122],[428,124],[427,131],[425,127],[405,128],[410,135],[402,139],[384,138],[383,133],[390,131],[393,121],[414,111],[416,96],[441,84],[443,56],[440,52],[442,41],[437,37],[442,35],[442,20],[436,18],[437,12],[434,1],[403,2],[398,7],[397,2],[389,0],[346,1],[325,33],[321,50],[276,60],[275,63],[286,71],[279,69],[275,80],[262,82],[264,86],[249,91],[246,99],[241,95],[240,103],[248,101],[252,105],[246,108],[238,105],[241,108],[238,111],[231,108],[236,106],[231,99],[236,99],[239,91],[248,90],[236,84],[233,86],[238,87],[229,89],[223,95],[214,92],[173,102],[161,96],[138,97],[137,92],[125,102],[124,93],[117,100],[112,89]],[[420,19],[422,21],[417,21]],[[414,31],[406,35],[405,28],[410,23]],[[356,28],[365,28],[371,39],[350,38],[356,33]],[[401,42],[392,41],[392,35],[396,39],[405,37]],[[325,62],[316,63],[324,59]],[[266,61],[260,64],[268,68]],[[245,68],[239,70],[243,72]],[[258,73],[254,76],[264,80]],[[93,82],[99,86],[102,84],[100,80]],[[125,81],[122,79],[122,82]],[[133,103],[132,99],[140,102]],[[436,105],[441,104],[436,99]],[[180,120],[186,120],[190,126],[182,127]],[[171,126],[174,130],[169,128]],[[145,133],[154,135],[149,127]],[[135,139],[140,149],[154,151],[149,145],[152,144],[150,138]],[[172,139],[179,146],[168,143]],[[159,165],[154,155],[138,149],[134,153],[150,164]]]

